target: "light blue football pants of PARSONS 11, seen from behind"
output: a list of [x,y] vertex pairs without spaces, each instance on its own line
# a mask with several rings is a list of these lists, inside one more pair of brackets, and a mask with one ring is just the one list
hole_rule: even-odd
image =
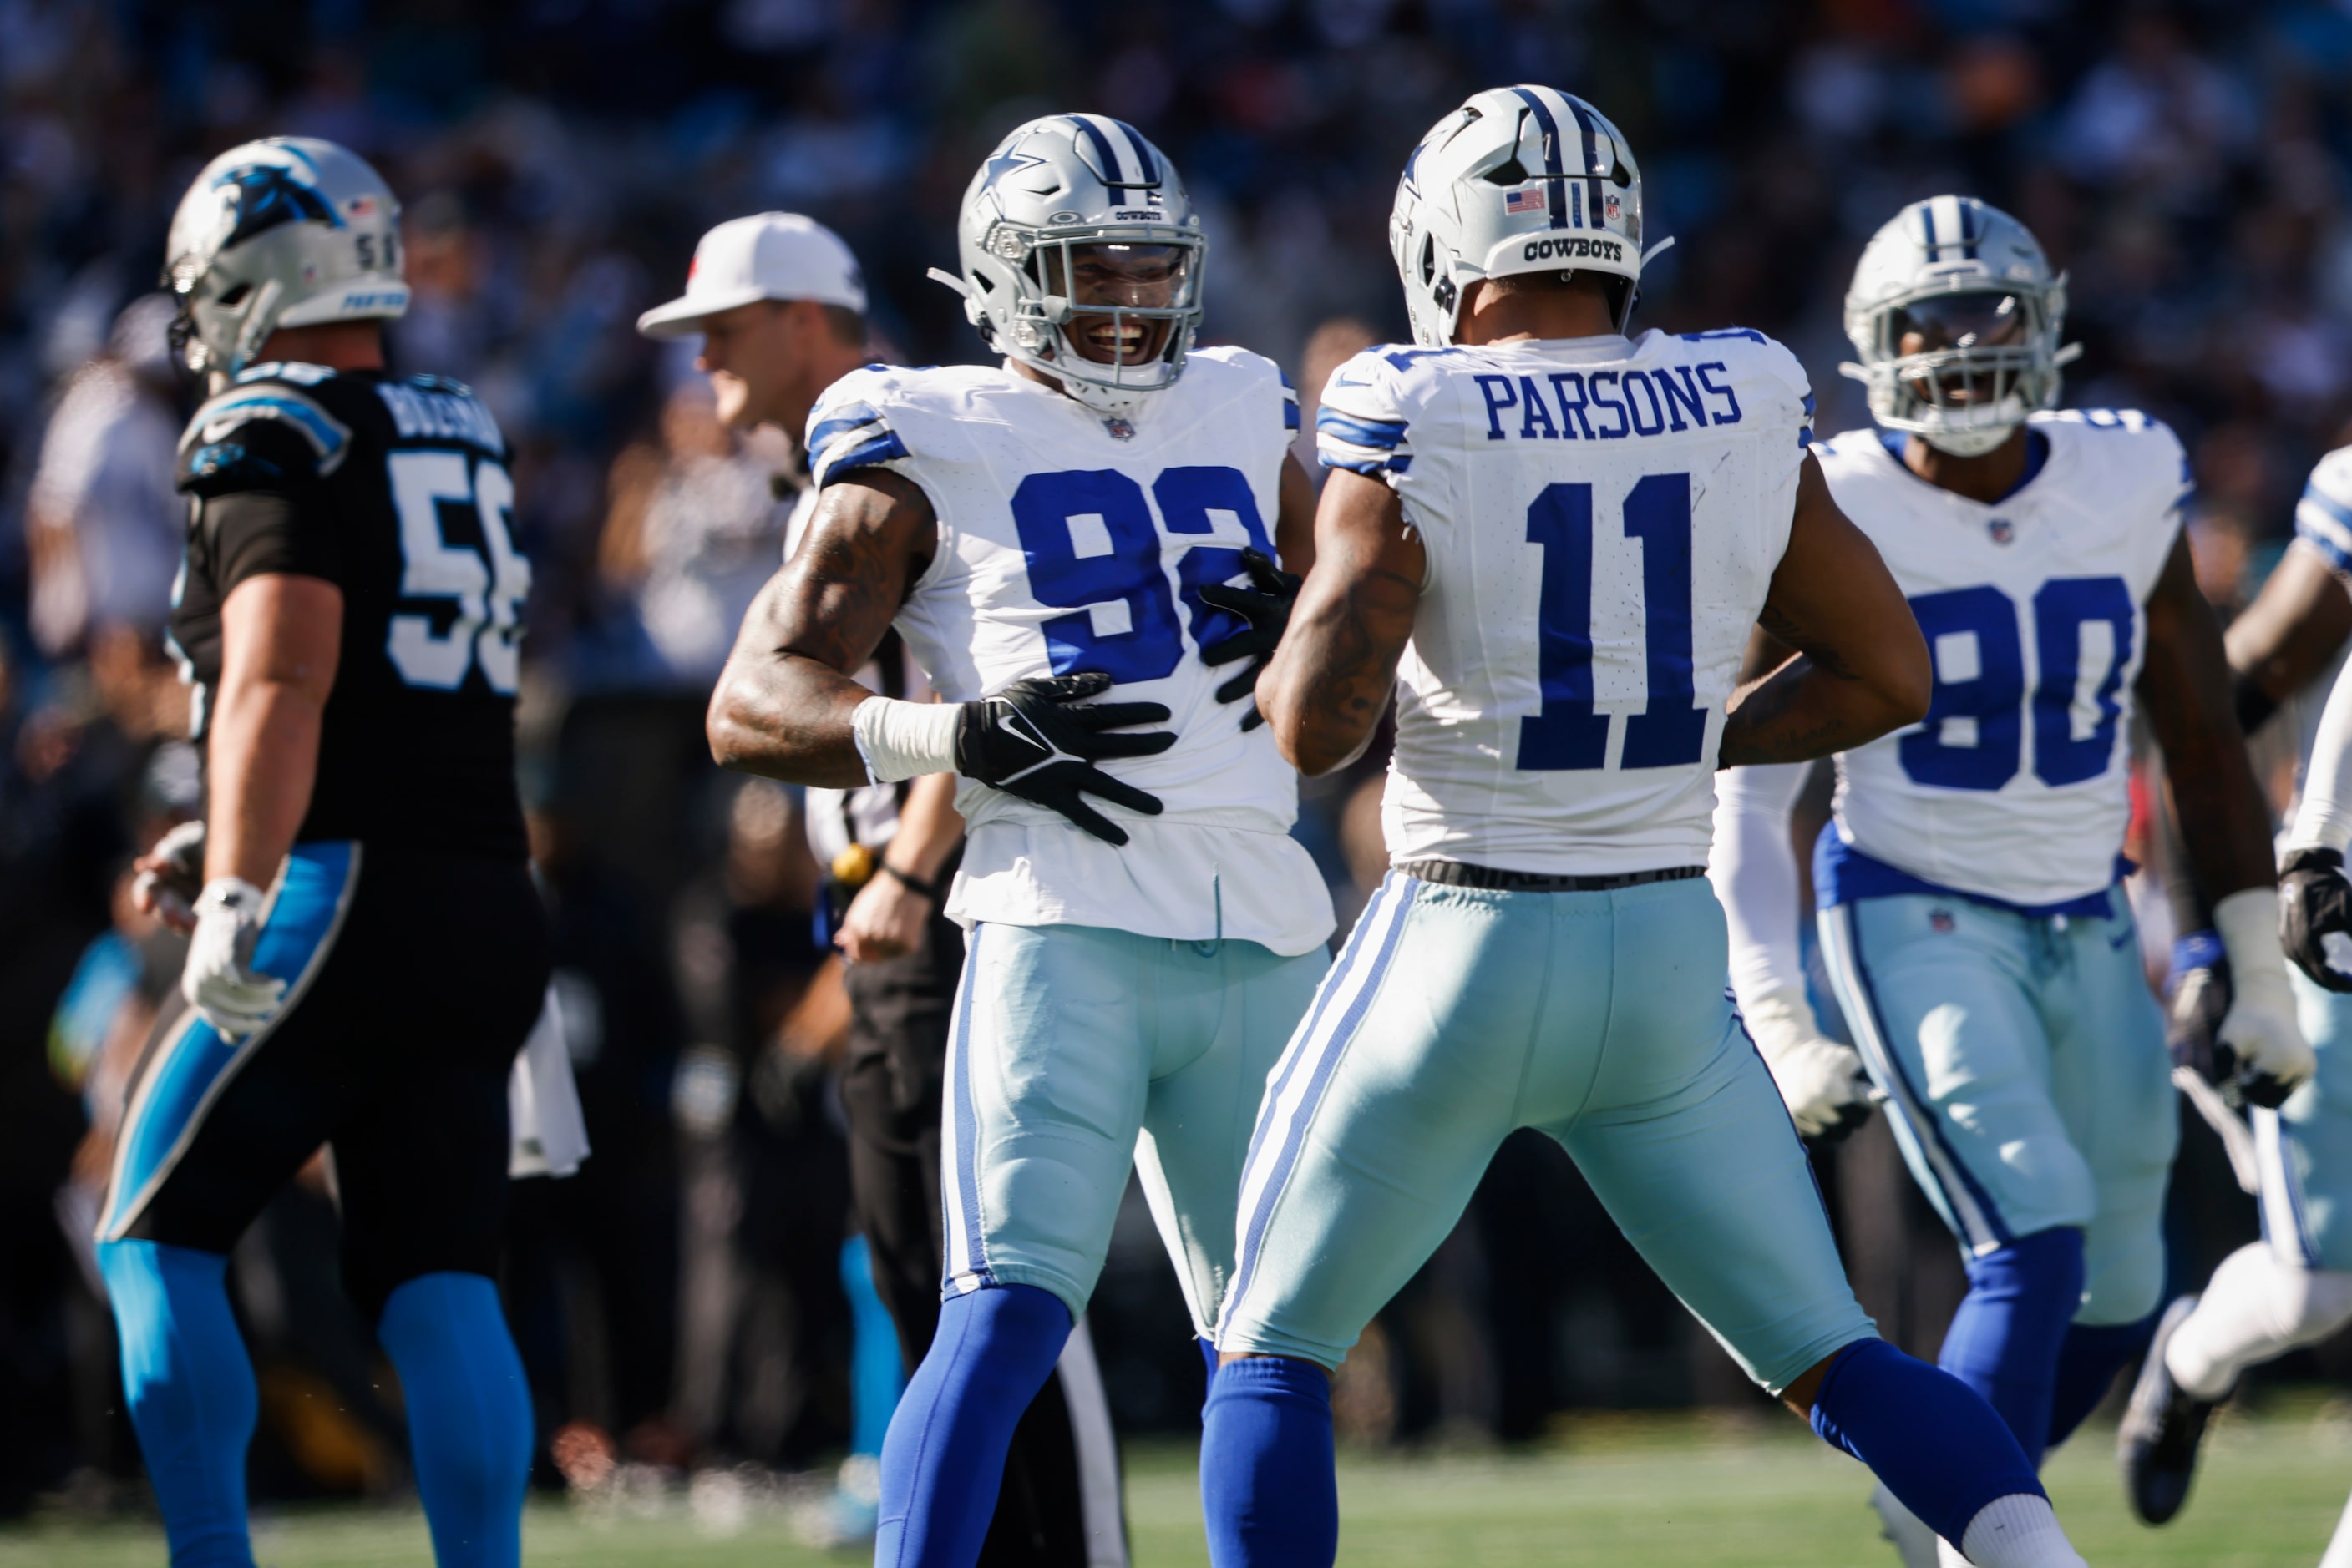
[[1338,1366],[1522,1126],[1766,1389],[1867,1338],[1724,973],[1703,877],[1501,893],[1390,872],[1268,1086],[1218,1349]]

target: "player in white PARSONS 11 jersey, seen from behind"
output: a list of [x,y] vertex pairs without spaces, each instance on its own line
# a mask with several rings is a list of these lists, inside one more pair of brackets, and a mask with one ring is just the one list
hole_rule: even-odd
[[[1929,705],[1903,595],[1806,458],[1804,369],[1757,331],[1625,339],[1642,179],[1550,87],[1439,120],[1390,244],[1418,348],[1324,386],[1315,571],[1258,703],[1315,776],[1397,686],[1392,870],[1251,1140],[1202,1434],[1209,1559],[1334,1561],[1327,1371],[1531,1126],[1750,1378],[1969,1561],[2082,1563],[1985,1401],[1872,1333],[1724,1001],[1717,764]],[[1736,689],[1759,618],[1799,656]]]

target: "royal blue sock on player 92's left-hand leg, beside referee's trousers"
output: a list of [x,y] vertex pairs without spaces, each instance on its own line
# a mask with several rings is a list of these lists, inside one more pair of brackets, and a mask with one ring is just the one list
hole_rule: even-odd
[[1070,1309],[1037,1286],[950,1295],[882,1441],[875,1568],[969,1568],[997,1512],[1004,1450],[1061,1359]]

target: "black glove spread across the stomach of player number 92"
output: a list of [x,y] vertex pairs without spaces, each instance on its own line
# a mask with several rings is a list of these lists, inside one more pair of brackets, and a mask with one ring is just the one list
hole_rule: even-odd
[[1105,733],[1129,724],[1164,724],[1169,710],[1160,703],[1080,701],[1103,691],[1110,691],[1110,677],[1089,670],[1018,679],[993,698],[964,703],[955,724],[955,771],[1061,811],[1108,844],[1124,844],[1127,830],[1082,795],[1101,795],[1143,816],[1160,816],[1160,797],[1120,783],[1094,764],[1105,757],[1157,757],[1176,745],[1176,731]]

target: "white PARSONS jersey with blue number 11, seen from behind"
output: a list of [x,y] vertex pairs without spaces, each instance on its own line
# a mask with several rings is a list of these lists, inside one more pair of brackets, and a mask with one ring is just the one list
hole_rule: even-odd
[[1428,550],[1397,672],[1395,860],[1705,865],[1715,750],[1788,548],[1813,400],[1759,331],[1374,348],[1322,461]]

